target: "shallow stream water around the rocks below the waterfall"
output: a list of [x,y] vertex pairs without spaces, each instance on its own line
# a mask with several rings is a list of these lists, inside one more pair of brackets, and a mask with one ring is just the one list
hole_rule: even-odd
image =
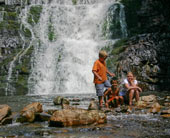
[[[144,92],[143,95],[155,94],[161,101],[168,93]],[[60,94],[71,101],[72,106],[88,108],[91,98],[95,94]],[[60,109],[53,105],[53,98],[58,95],[30,95],[0,97],[0,104],[8,103],[13,112],[19,112],[24,106],[32,102],[43,104],[43,110]],[[76,102],[79,99],[80,102]],[[15,123],[0,127],[0,137],[44,137],[44,138],[169,138],[170,119],[162,118],[159,114],[148,114],[136,111],[131,114],[112,112],[107,113],[107,123],[102,125],[88,125],[78,127],[48,127],[48,122]]]

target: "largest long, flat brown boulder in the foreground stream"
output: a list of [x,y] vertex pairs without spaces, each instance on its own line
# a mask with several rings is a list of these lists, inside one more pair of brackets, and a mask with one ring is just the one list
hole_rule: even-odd
[[102,124],[106,122],[106,115],[97,110],[68,108],[56,111],[49,121],[49,126],[79,126],[89,124]]

